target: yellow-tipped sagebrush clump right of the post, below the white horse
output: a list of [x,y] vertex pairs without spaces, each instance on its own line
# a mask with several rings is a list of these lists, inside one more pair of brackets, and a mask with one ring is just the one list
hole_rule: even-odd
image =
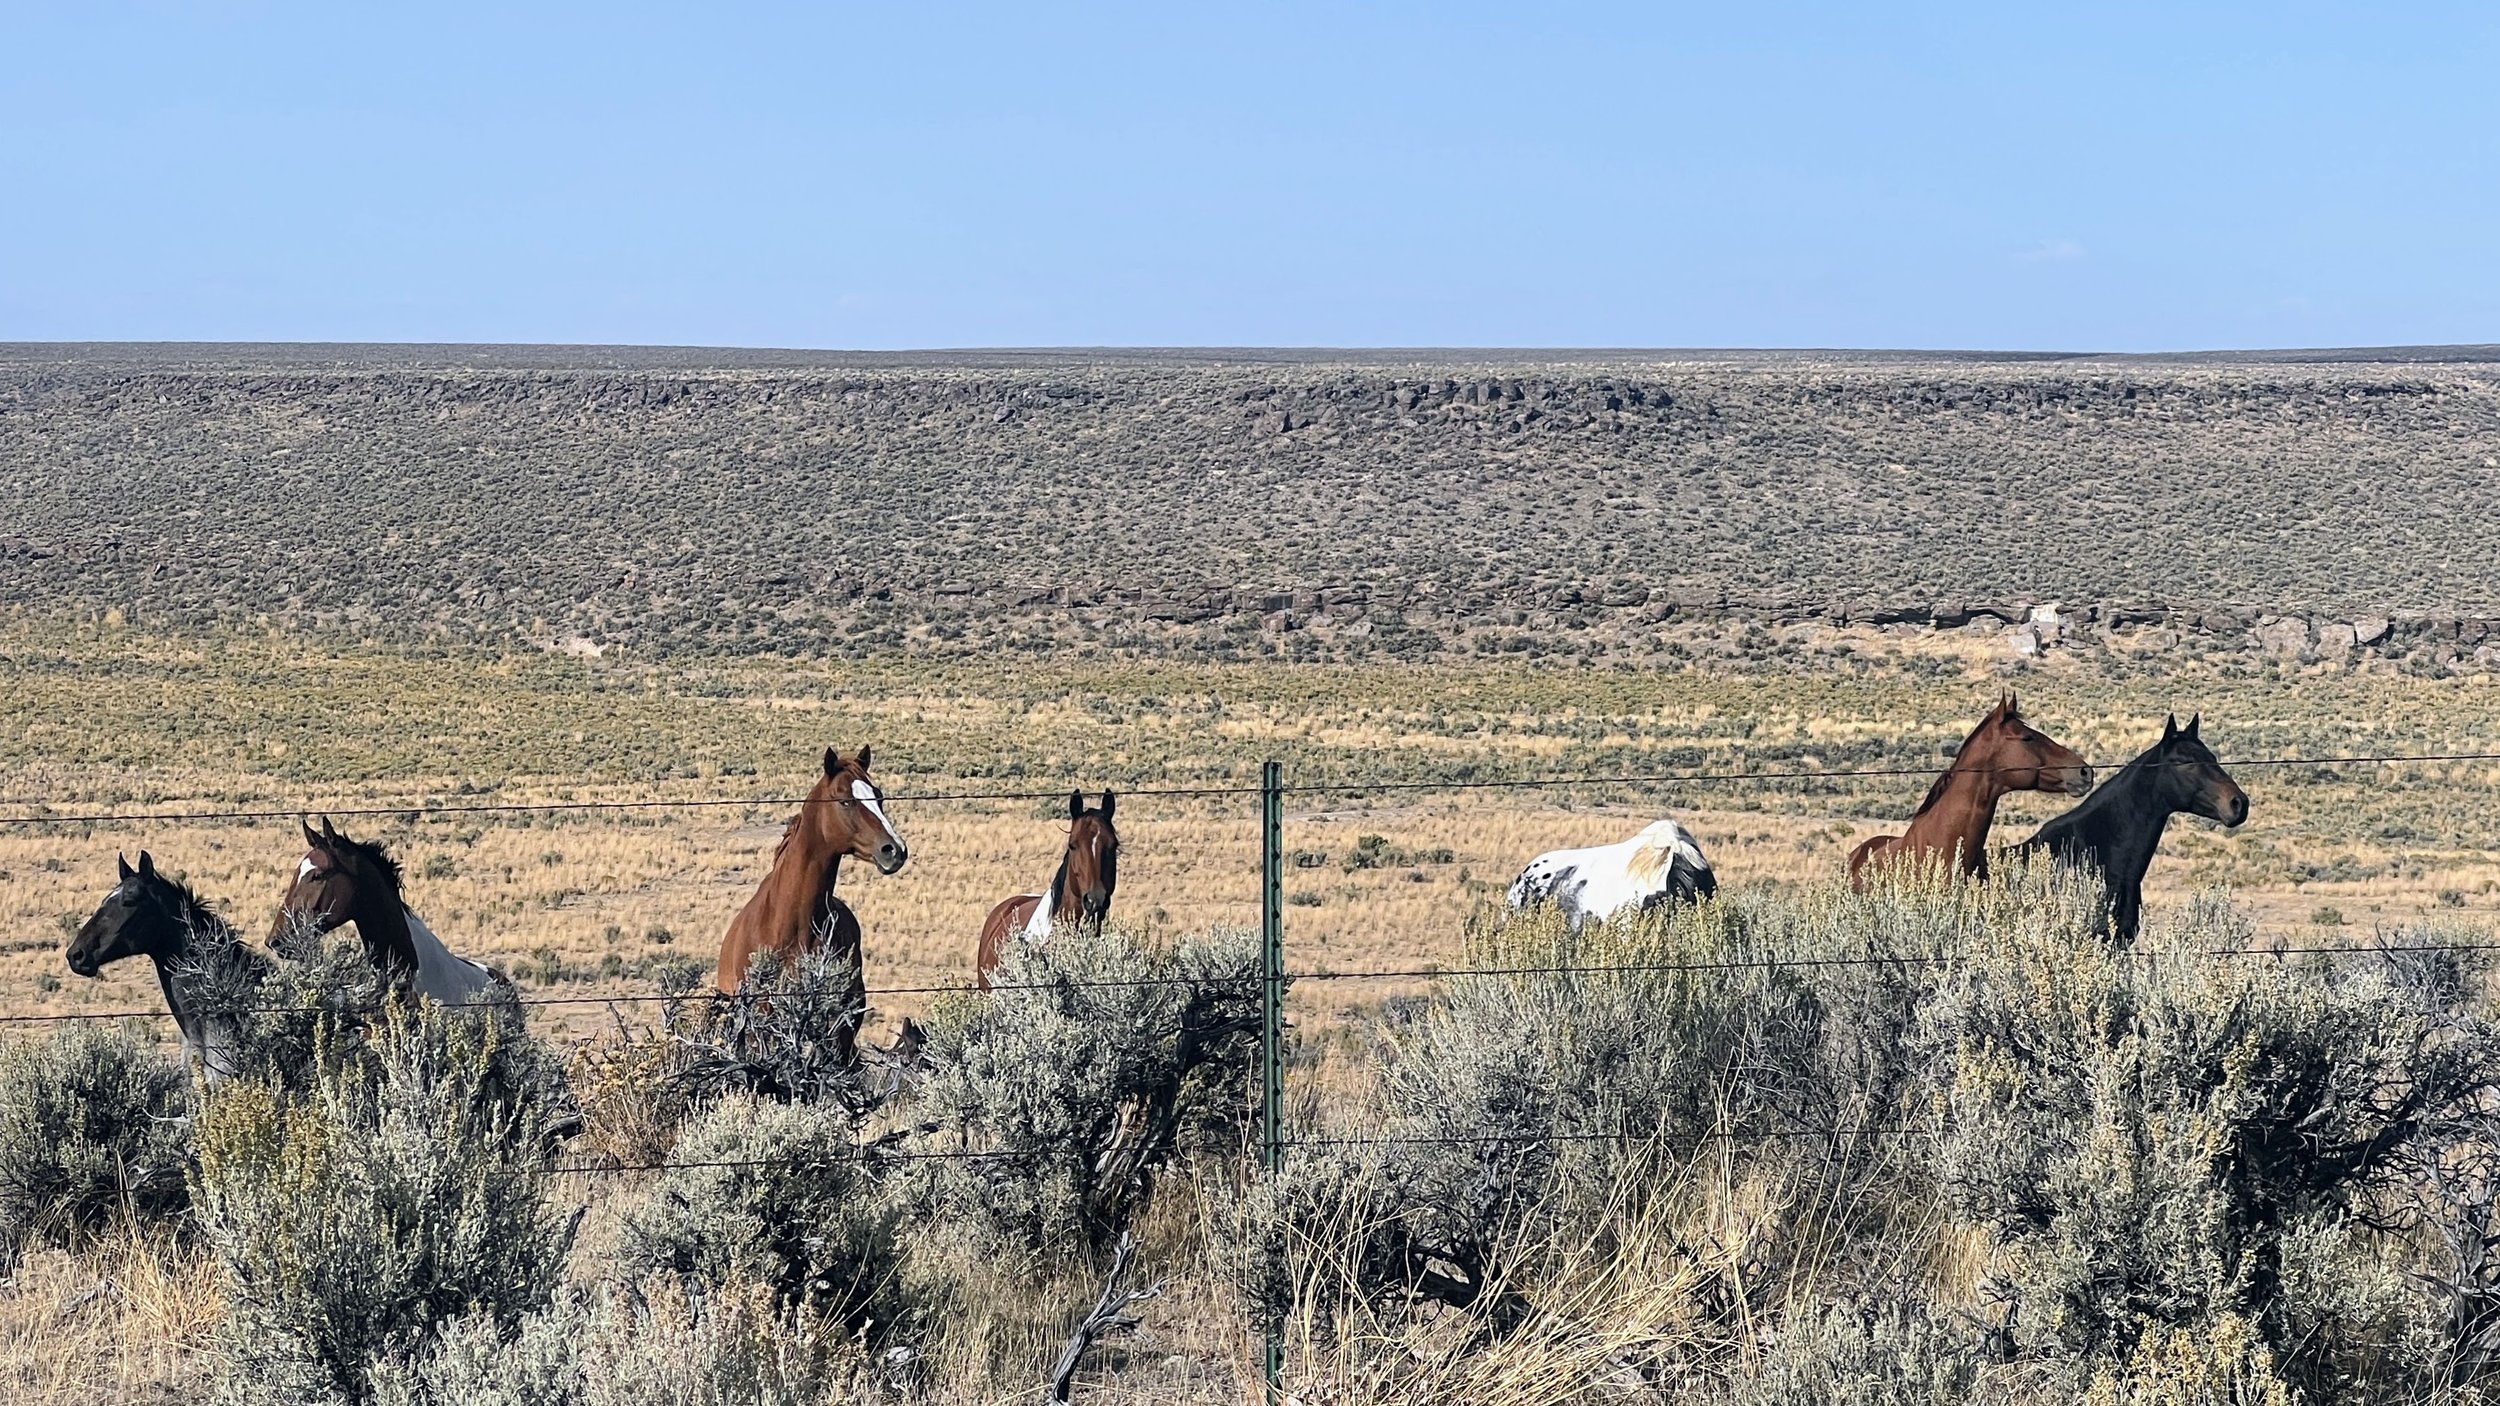
[[[1375,1098],[1340,1106],[1318,1128],[1338,1141],[1260,1193],[1298,1228],[1290,1246],[1332,1263],[1285,1266],[1275,1248],[1245,1263],[1270,1293],[1295,1278],[1475,1306],[1542,1243],[1620,1213],[1625,1186],[1670,1183],[1705,1151],[1785,1161],[1790,1133],[1862,1121],[1862,1061],[1832,1048],[1862,1043],[1868,1016],[1835,1016],[1808,971],[1770,961],[1800,951],[1785,918],[1758,896],[1582,931],[1482,916],[1462,966],[1500,976],[1448,978],[1385,1026]],[[1820,953],[1835,933],[1812,941]],[[1828,1143],[1825,1176],[1850,1166]]]

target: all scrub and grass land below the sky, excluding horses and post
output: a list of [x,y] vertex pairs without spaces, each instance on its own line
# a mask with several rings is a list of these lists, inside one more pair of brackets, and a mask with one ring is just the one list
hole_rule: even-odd
[[[272,355],[0,365],[0,1016],[158,1008],[60,961],[115,853],[258,938],[325,811],[580,1003],[295,1018],[215,1096],[160,1018],[0,1026],[12,1398],[1030,1401],[1122,1233],[1088,1401],[1238,1401],[1262,1326],[1348,1403],[2488,1383],[2500,763],[2272,766],[2500,738],[2485,363]],[[2048,876],[1842,888],[2005,688],[2102,766],[2202,713],[2252,796],[2138,953]],[[925,1043],[762,1098],[650,998],[860,743]],[[1805,776],[1660,781],[1720,773]],[[1470,788],[1532,778],[1598,781]],[[1112,933],[948,991],[1105,786]],[[1712,906],[1495,908],[1660,813]],[[1362,976],[1452,966],[1642,971]]]

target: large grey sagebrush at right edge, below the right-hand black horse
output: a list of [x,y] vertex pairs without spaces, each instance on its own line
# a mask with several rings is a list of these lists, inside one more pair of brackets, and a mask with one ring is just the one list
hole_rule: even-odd
[[2475,953],[2210,956],[2245,938],[2198,903],[2135,951],[2068,933],[1975,948],[1922,1036],[1952,1113],[1940,1183],[2022,1251],[2012,1333],[2030,1351],[2132,1361],[2228,1316],[2310,1391],[2455,1376],[2470,1343],[2408,1323],[2425,1293],[2448,1318],[2480,1293],[2468,1336],[2488,1336],[2490,1271],[2388,1261],[2440,1243],[2402,1233],[2425,1211],[2455,1221],[2440,1171],[2500,1153]]

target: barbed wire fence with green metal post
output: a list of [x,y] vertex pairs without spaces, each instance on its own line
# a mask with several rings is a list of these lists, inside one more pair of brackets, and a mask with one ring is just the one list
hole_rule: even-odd
[[[2260,756],[2260,758],[2225,758],[2225,768],[2340,768],[2340,766],[2445,766],[2445,763],[2500,763],[2500,751],[2420,751],[2420,753],[2335,753],[2335,756]],[[1405,1146],[1405,1143],[1435,1143],[1435,1146],[1490,1146],[1490,1143],[1535,1143],[1535,1141],[1642,1141],[1655,1138],[1655,1128],[1612,1128],[1612,1131],[1540,1131],[1540,1133],[1488,1133],[1488,1136],[1295,1136],[1288,1131],[1285,1116],[1285,996],[1295,983],[1358,983],[1358,981],[1452,981],[1452,978],[1522,978],[1522,976],[1638,976],[1638,973],[1740,973],[1740,971],[1802,971],[1802,968],[1840,968],[1840,966],[1935,966],[1950,963],[1948,956],[1920,956],[1920,953],[1882,953],[1882,956],[1765,956],[1765,958],[1738,958],[1738,961],[1662,961],[1662,963],[1545,963],[1545,966],[1390,966],[1390,968],[1358,968],[1358,971],[1292,971],[1288,966],[1285,951],[1285,873],[1288,851],[1282,846],[1285,831],[1285,801],[1288,798],[1345,798],[1345,796],[1375,796],[1375,793],[1470,793],[1470,791],[1560,791],[1560,788],[1600,788],[1600,786],[1768,786],[1768,783],[1838,783],[1838,781],[1888,781],[1888,778],[1920,778],[1928,781],[1938,776],[1938,766],[1865,766],[1865,768],[1760,768],[1760,771],[1625,771],[1625,773],[1572,773],[1572,776],[1510,776],[1510,778],[1332,778],[1312,781],[1300,786],[1285,783],[1282,763],[1270,761],[1260,771],[1258,783],[1192,783],[1192,786],[1128,786],[1118,788],[1120,798],[1175,798],[1175,801],[1245,801],[1258,798],[1260,803],[1260,971],[1258,971],[1258,996],[1260,996],[1260,1116],[1255,1138],[1255,1161],[1262,1176],[1280,1176],[1285,1171],[1288,1151],[1292,1148],[1355,1148],[1355,1146]],[[2008,768],[2030,771],[2030,768]],[[2102,771],[2095,763],[2095,771]],[[2115,771],[2115,768],[2110,768]],[[475,793],[472,793],[475,796]],[[1065,788],[1030,791],[1030,788],[1000,788],[1000,791],[898,791],[885,793],[888,806],[935,806],[935,803],[1038,803],[1038,801],[1062,801]],[[330,818],[402,818],[402,821],[432,821],[432,818],[460,818],[460,816],[540,816],[540,813],[652,813],[652,811],[725,811],[725,808],[802,808],[810,803],[838,803],[840,798],[818,801],[810,796],[680,796],[680,798],[630,798],[630,801],[468,801],[468,798],[425,798],[400,806],[290,806],[290,808],[202,808],[200,801],[160,801],[145,811],[55,811],[42,803],[15,801],[0,803],[12,806],[0,813],[0,828],[35,828],[35,831],[92,831],[92,828],[118,828],[118,826],[252,826],[275,821],[298,821],[305,816],[330,816]],[[22,943],[22,946],[48,946],[48,943]],[[2245,958],[2288,958],[2288,956],[2315,956],[2315,958],[2362,958],[2362,956],[2395,956],[2395,953],[2472,953],[2472,951],[2500,951],[2500,941],[2398,941],[2385,938],[2375,943],[2272,943],[2262,948],[2202,948],[2202,951],[2135,951],[2130,956],[2142,958],[2200,958],[2200,961],[2245,961]],[[1145,978],[1050,978],[1050,981],[992,981],[988,991],[1030,991],[1030,988],[1138,988],[1138,986],[1192,986],[1205,978],[1188,976],[1145,976]],[[952,983],[905,983],[905,986],[878,986],[868,988],[865,996],[890,998],[890,996],[952,996],[975,993],[980,986],[972,981]],[[528,996],[508,993],[495,1001],[470,1001],[448,1003],[450,1008],[565,1008],[565,1006],[638,1006],[638,1003],[735,1003],[768,998],[770,993],[722,993],[722,991],[650,991],[650,993],[598,993],[598,996]],[[228,1016],[240,1013],[318,1013],[318,1011],[342,1011],[340,1006],[240,1006],[232,1011],[218,1011]],[[78,1023],[78,1021],[132,1021],[132,1018],[170,1018],[170,1011],[155,1008],[120,1008],[120,1011],[48,1011],[48,1013],[0,1013],[0,1028],[5,1026],[52,1026],[52,1023]],[[1830,1126],[1830,1128],[1750,1128],[1745,1133],[1705,1133],[1705,1136],[1825,1136],[1825,1138],[1860,1138],[1860,1136],[1908,1136],[1932,1128],[1888,1128],[1888,1126]],[[1190,1151],[1218,1151],[1218,1148],[1190,1148]],[[1222,1148],[1245,1151],[1245,1148]],[[900,1148],[882,1146],[880,1141],[860,1143],[858,1156],[862,1158],[890,1158],[890,1161],[1018,1161],[1042,1156],[1038,1148]],[[625,1173],[675,1173],[675,1171],[740,1171],[740,1168],[768,1168],[785,1166],[780,1161],[638,1161],[638,1163],[552,1163],[545,1171],[555,1176],[625,1176]],[[1270,1331],[1265,1338],[1265,1381],[1270,1398],[1282,1381],[1282,1336]]]

